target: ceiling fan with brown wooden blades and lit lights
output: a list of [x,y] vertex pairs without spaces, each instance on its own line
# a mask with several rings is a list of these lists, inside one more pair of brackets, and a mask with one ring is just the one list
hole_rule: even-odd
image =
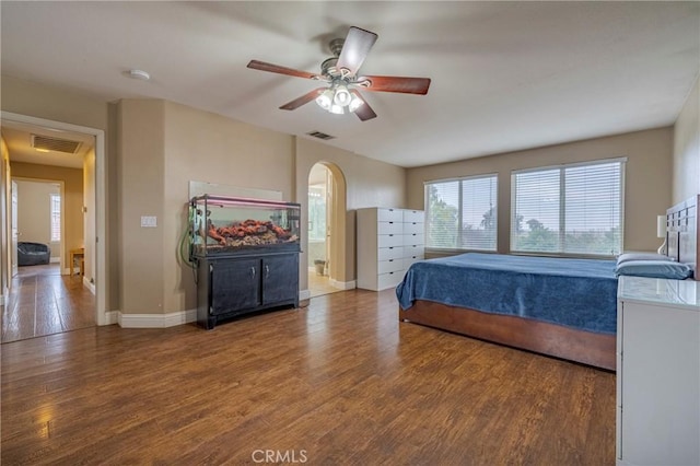
[[327,86],[317,88],[298,97],[280,108],[293,110],[316,101],[318,106],[332,114],[354,113],[362,121],[376,117],[376,114],[360,94],[360,89],[372,92],[399,92],[404,94],[428,93],[429,78],[404,78],[382,75],[358,75],[362,62],[377,39],[370,31],[352,26],[345,39],[330,40],[332,57],[320,65],[320,74],[300,71],[265,61],[250,60],[248,68],[323,81]]

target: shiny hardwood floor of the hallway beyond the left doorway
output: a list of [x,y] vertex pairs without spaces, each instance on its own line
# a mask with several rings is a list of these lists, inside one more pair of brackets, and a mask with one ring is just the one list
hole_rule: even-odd
[[0,311],[3,343],[95,325],[95,296],[57,264],[20,267]]

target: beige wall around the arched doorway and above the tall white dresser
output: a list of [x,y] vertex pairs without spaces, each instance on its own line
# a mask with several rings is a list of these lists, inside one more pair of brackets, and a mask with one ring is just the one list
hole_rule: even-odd
[[[337,149],[304,138],[296,139],[296,199],[302,203],[302,237],[306,237],[308,226],[307,193],[308,174],[314,164],[323,162],[338,167],[347,186],[345,226],[336,230],[336,241],[345,243],[345,257],[331,261],[345,263],[345,269],[334,277],[341,282],[355,279],[354,263],[354,211],[363,207],[406,207],[406,171],[399,166],[377,162],[352,152]],[[308,258],[302,253],[301,264]],[[303,267],[304,270],[306,267]],[[306,288],[307,276],[301,275],[302,289]]]

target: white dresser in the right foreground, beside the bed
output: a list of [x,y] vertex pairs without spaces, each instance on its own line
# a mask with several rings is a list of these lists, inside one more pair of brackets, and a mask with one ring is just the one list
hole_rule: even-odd
[[617,464],[700,464],[700,283],[620,277]]

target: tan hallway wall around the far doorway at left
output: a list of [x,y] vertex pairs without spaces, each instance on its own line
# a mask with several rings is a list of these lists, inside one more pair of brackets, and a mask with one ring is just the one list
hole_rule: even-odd
[[[84,246],[83,237],[83,174],[82,170],[62,166],[10,162],[13,178],[31,178],[63,183],[63,245],[62,263],[68,266],[70,249]],[[21,237],[22,238],[22,237]]]

